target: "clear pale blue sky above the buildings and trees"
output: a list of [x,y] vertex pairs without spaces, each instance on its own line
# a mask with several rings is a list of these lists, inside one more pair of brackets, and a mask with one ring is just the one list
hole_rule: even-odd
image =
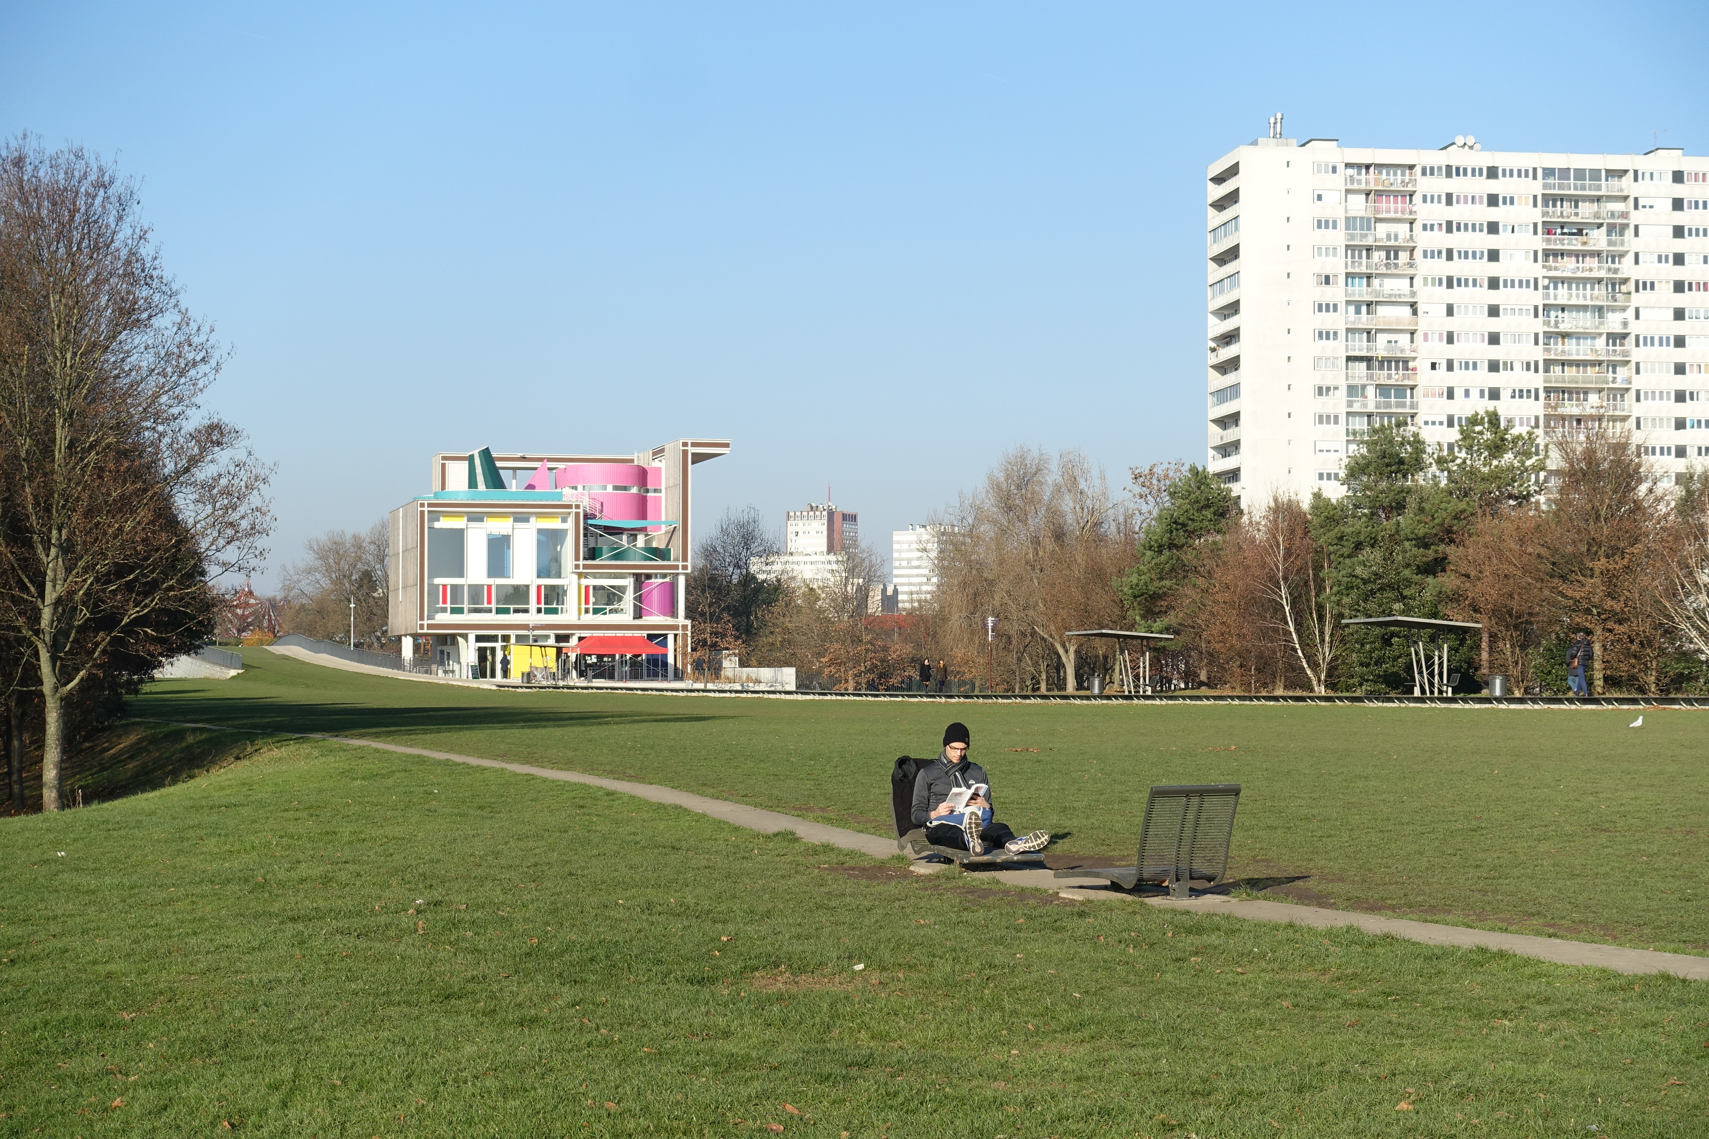
[[[1700,3],[5,5],[0,121],[142,179],[273,565],[439,449],[728,437],[889,531],[1015,444],[1201,459],[1203,167],[1709,149]],[[272,574],[261,579],[272,581]]]

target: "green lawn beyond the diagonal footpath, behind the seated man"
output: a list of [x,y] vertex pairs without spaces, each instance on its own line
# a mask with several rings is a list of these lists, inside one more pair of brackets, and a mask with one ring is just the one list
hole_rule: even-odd
[[878,835],[894,758],[937,755],[964,719],[1000,815],[1063,852],[1131,857],[1150,784],[1239,782],[1230,873],[1268,897],[1709,951],[1700,712],[1629,729],[1615,710],[514,693],[244,659],[132,709],[636,779]]

